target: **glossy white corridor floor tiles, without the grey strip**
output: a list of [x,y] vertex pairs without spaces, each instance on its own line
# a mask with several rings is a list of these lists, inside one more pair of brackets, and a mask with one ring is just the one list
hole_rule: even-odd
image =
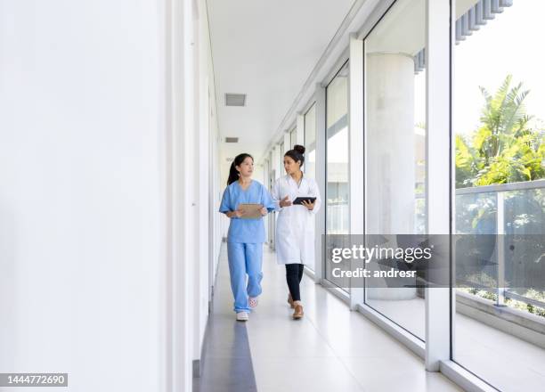
[[[218,279],[224,288],[228,288],[226,270],[222,260]],[[442,374],[426,372],[419,357],[306,275],[302,282],[305,317],[292,320],[284,279],[284,267],[276,265],[274,254],[265,250],[264,292],[245,325],[258,391],[460,390]],[[215,314],[224,317],[232,313],[232,295],[226,290],[218,294],[222,298],[216,306],[222,309],[216,308]],[[234,314],[231,320],[236,323]],[[252,377],[252,370],[247,371]],[[239,371],[232,377],[248,375]]]

